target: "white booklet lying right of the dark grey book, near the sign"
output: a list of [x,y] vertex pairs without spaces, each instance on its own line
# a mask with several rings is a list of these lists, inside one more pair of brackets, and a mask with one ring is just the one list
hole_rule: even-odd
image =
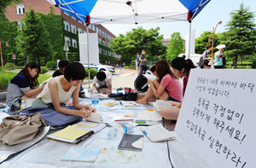
[[166,130],[163,125],[141,126],[140,129],[143,134],[152,142],[162,142],[172,140],[176,134],[172,131]]

